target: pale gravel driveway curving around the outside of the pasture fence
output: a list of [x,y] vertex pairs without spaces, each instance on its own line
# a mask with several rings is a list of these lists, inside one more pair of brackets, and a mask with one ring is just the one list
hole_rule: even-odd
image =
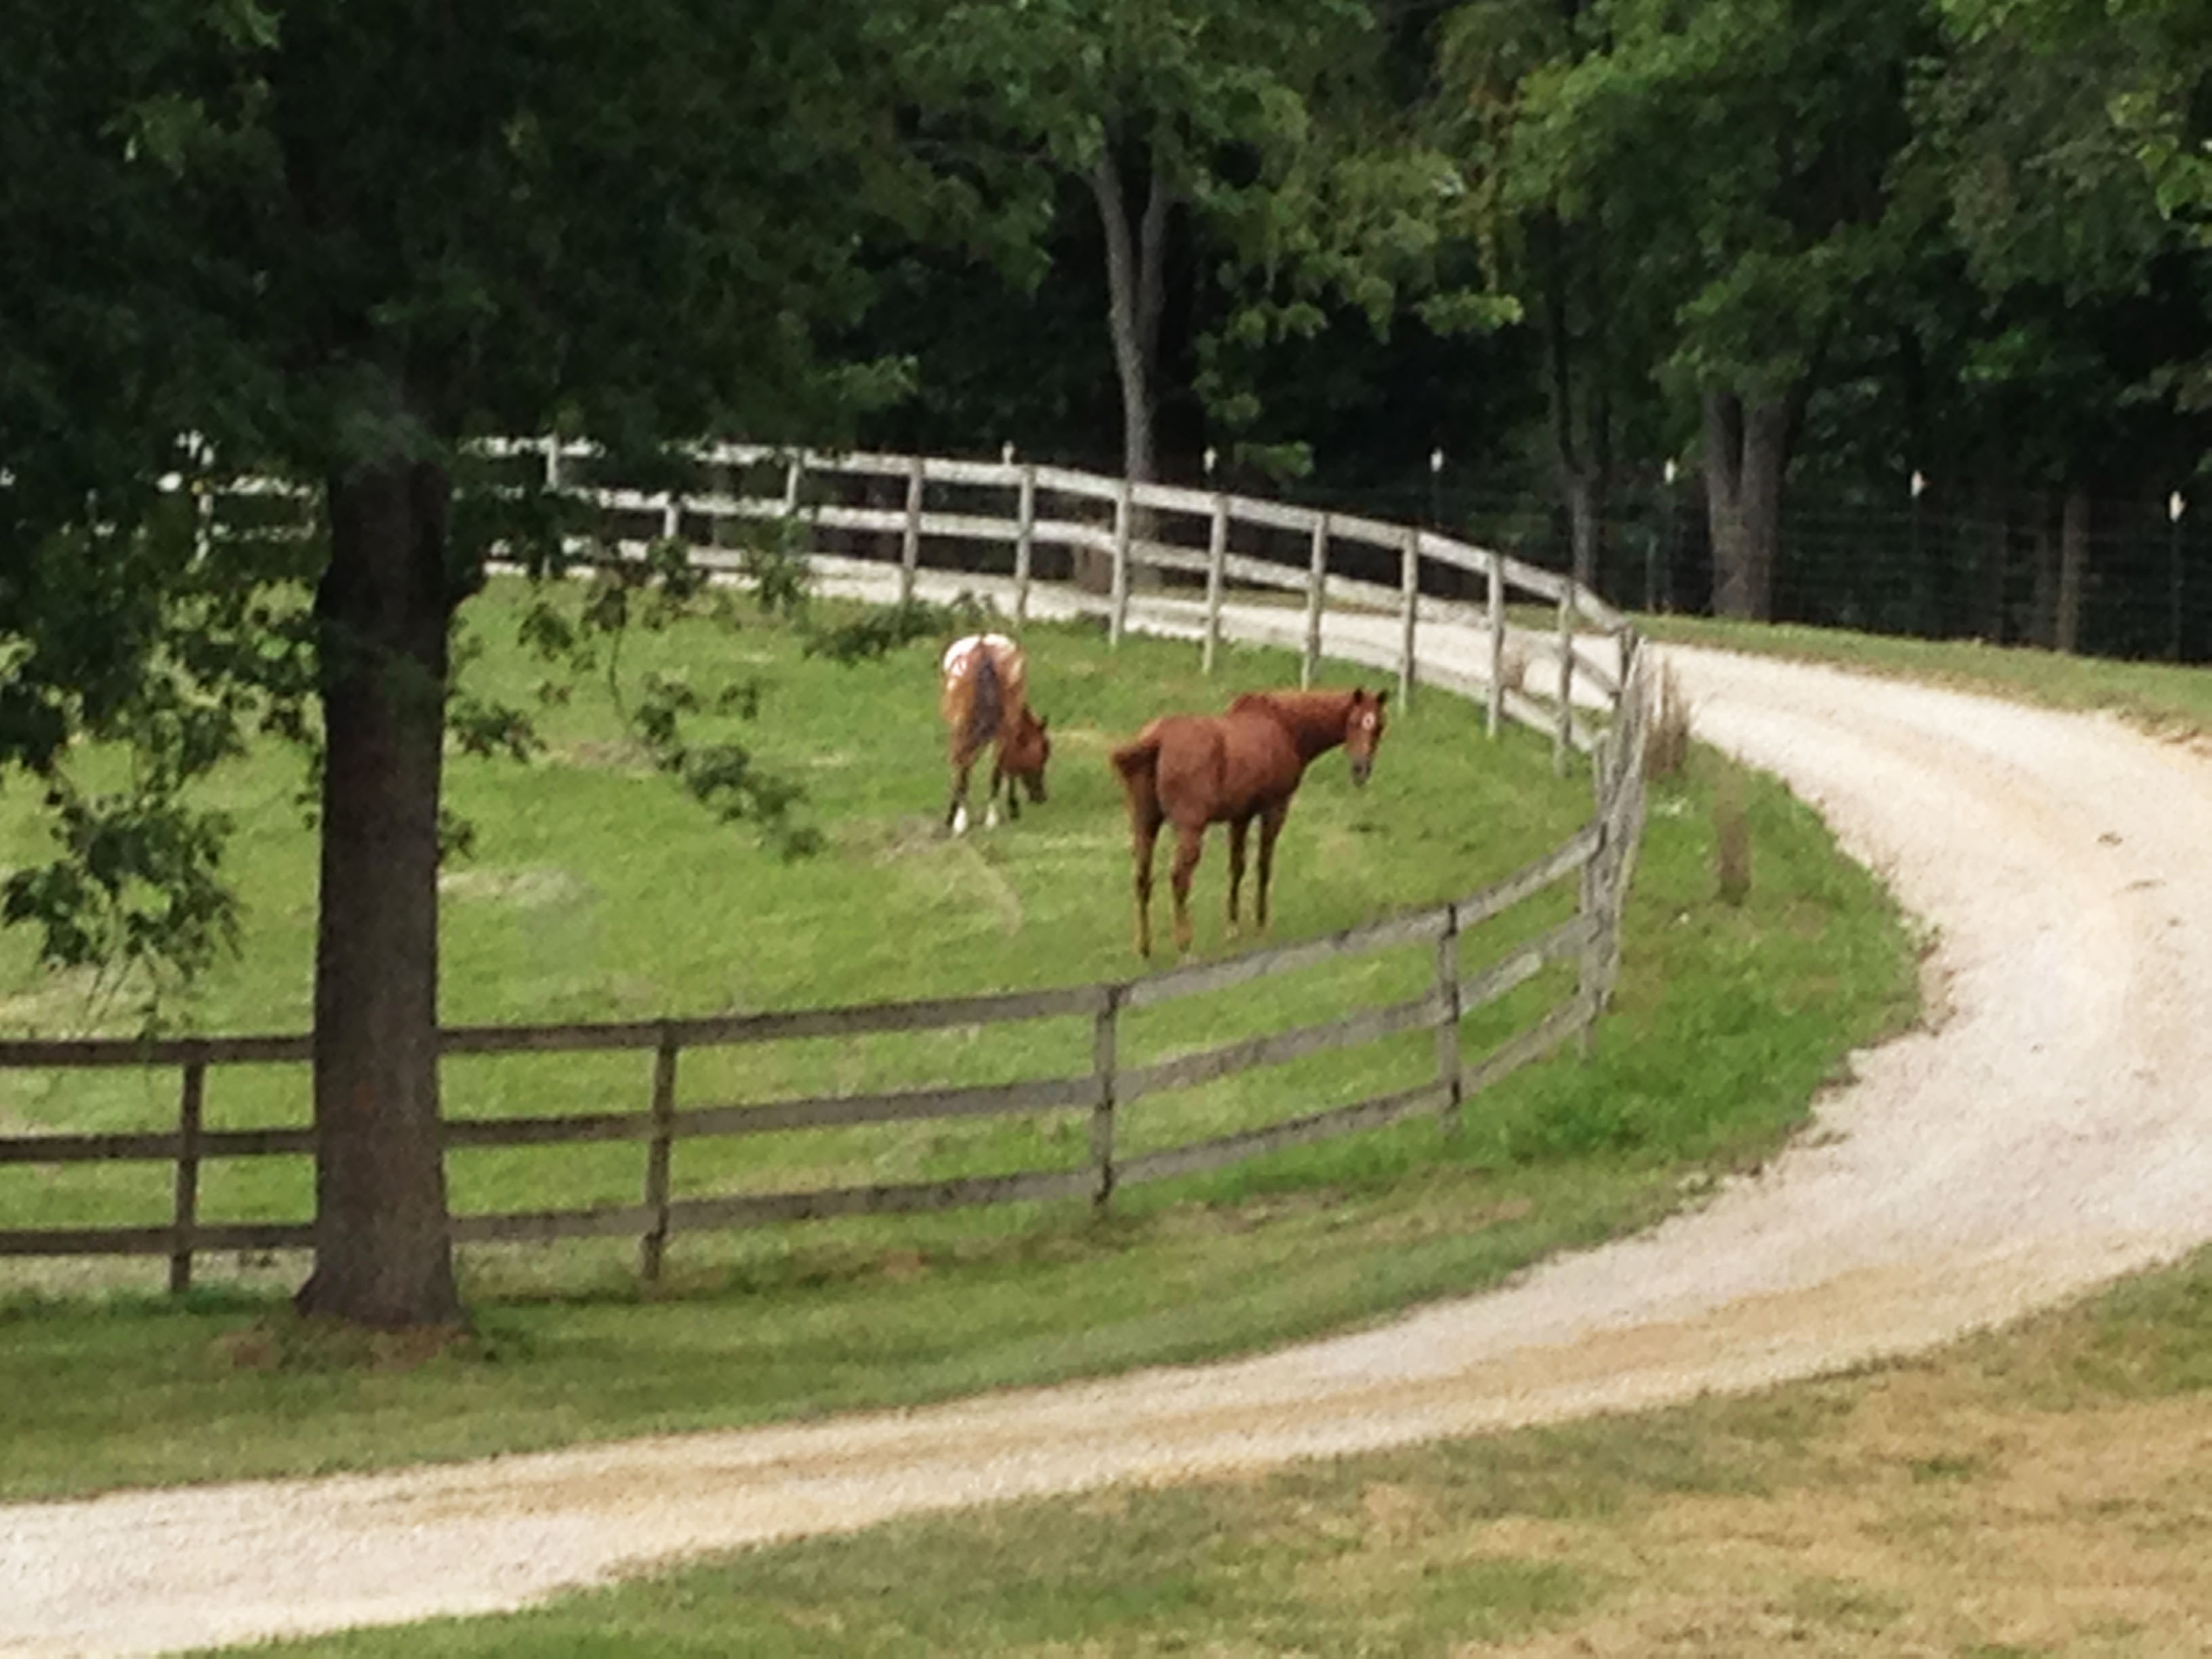
[[0,1652],[513,1608],[695,1551],[1750,1389],[2212,1237],[2212,763],[2117,721],[1672,650],[1699,732],[1933,929],[1936,1020],[1763,1172],[1471,1301],[838,1422],[0,1509]]

